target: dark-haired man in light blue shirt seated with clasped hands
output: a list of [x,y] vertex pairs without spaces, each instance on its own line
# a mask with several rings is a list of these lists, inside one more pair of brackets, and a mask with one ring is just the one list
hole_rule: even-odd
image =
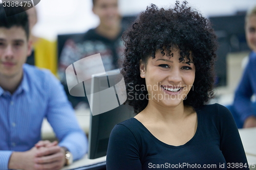
[[[12,10],[12,9],[10,9]],[[31,53],[26,12],[6,17],[0,6],[0,169],[60,169],[87,152],[60,82],[24,64]],[[59,143],[40,141],[46,117]]]

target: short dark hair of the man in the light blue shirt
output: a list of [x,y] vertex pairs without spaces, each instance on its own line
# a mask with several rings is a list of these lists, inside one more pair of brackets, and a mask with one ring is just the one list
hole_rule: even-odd
[[[15,8],[9,8],[8,10],[15,10]],[[21,12],[7,17],[3,4],[0,4],[0,27],[10,29],[14,26],[22,27],[26,33],[27,39],[29,38],[29,21],[27,13]]]

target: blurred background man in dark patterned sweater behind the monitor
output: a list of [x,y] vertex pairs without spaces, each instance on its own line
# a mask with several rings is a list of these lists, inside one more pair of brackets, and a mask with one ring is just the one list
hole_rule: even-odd
[[[105,71],[118,68],[118,60],[124,47],[121,35],[124,29],[121,27],[121,15],[118,10],[118,0],[93,0],[93,13],[99,17],[98,27],[89,30],[79,40],[67,40],[60,55],[58,75],[65,86],[68,98],[73,107],[78,103],[88,103],[87,98],[71,96],[66,81],[66,68],[84,58],[100,53]],[[88,64],[90,65],[90,64]],[[90,68],[81,68],[86,74],[88,70],[97,69],[93,64]],[[67,72],[69,74],[69,72]],[[84,75],[86,77],[86,75]]]

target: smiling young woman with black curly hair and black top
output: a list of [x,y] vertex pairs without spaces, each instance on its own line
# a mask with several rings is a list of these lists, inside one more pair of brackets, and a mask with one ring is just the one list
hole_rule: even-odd
[[233,117],[213,95],[216,35],[187,3],[147,7],[123,34],[127,103],[111,133],[111,169],[249,169]]

